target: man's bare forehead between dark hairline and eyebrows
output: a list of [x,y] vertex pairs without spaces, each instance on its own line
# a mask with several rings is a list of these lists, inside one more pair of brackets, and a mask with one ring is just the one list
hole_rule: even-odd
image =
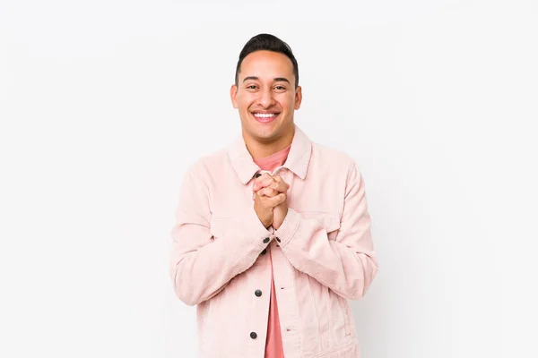
[[287,55],[272,51],[256,51],[248,54],[241,63],[239,80],[256,76],[261,80],[285,77],[294,81],[293,64]]

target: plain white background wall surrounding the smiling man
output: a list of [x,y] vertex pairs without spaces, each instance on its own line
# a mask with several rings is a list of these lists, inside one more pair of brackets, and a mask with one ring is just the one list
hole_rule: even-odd
[[[535,1],[0,1],[0,356],[195,357],[169,231],[269,32],[364,176],[364,358],[536,357]],[[256,357],[253,357],[256,358]]]

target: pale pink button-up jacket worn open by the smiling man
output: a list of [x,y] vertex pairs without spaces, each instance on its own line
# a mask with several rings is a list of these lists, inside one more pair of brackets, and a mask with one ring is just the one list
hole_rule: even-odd
[[198,357],[263,358],[271,264],[286,358],[358,358],[346,299],[377,273],[365,184],[352,158],[295,127],[288,160],[288,215],[265,229],[253,208],[260,168],[242,137],[201,158],[184,178],[171,230],[175,294],[197,305]]

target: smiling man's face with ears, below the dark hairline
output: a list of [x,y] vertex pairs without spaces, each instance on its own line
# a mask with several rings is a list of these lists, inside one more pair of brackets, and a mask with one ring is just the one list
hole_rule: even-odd
[[245,57],[230,97],[239,110],[243,133],[265,143],[293,131],[293,112],[299,109],[302,98],[300,87],[295,88],[291,60],[271,51]]

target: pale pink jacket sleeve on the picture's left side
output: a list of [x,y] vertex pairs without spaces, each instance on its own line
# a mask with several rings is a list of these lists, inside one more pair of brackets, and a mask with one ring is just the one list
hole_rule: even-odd
[[195,305],[218,294],[233,277],[250,268],[270,238],[254,209],[231,217],[224,235],[211,234],[210,193],[201,163],[184,178],[176,223],[171,230],[169,262],[174,292],[187,305]]

